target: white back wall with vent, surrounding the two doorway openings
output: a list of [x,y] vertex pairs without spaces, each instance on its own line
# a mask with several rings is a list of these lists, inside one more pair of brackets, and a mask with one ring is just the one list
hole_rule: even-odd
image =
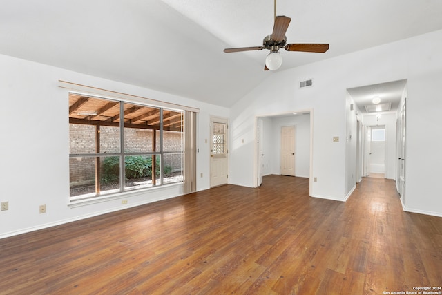
[[[333,44],[331,44],[333,50]],[[245,95],[231,109],[233,184],[253,187],[253,138],[257,115],[313,110],[313,183],[311,195],[345,200],[346,196],[346,89],[407,79],[406,202],[409,211],[442,216],[439,198],[442,150],[442,30],[385,44],[281,72]],[[325,53],[327,54],[327,53]],[[294,53],[285,58],[302,58]],[[290,55],[290,57],[289,57]],[[314,78],[311,88],[298,88]],[[334,136],[340,142],[332,142]],[[244,139],[244,144],[241,143]]]

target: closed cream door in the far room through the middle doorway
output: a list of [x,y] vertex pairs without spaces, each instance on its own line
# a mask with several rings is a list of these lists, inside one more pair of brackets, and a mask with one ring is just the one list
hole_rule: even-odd
[[281,175],[295,175],[295,126],[281,127]]

